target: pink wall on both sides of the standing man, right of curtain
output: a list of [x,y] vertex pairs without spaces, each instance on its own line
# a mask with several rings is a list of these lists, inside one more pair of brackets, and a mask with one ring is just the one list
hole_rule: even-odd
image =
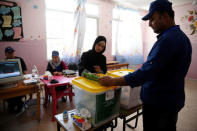
[[[197,9],[197,5],[192,5],[192,3],[187,3],[184,5],[179,5],[173,7],[175,11],[175,23],[177,25],[180,25],[180,28],[183,30],[183,32],[186,33],[186,35],[189,37],[191,44],[192,44],[192,62],[189,68],[189,71],[187,73],[187,77],[191,79],[197,79],[197,33],[194,35],[191,34],[191,30],[189,28],[189,23],[187,20],[181,20],[181,18],[185,15],[189,15],[188,11],[191,9]],[[143,46],[144,46],[144,59],[146,60],[148,53],[150,52],[150,49],[152,48],[154,42],[156,39],[156,34],[154,34],[153,30],[148,27],[148,22],[145,22],[144,25],[145,35],[143,39]]]

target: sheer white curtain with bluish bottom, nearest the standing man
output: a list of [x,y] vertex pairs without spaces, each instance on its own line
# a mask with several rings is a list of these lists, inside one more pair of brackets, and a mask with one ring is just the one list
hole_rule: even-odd
[[135,10],[117,7],[113,11],[113,48],[115,60],[129,65],[143,63],[141,17]]

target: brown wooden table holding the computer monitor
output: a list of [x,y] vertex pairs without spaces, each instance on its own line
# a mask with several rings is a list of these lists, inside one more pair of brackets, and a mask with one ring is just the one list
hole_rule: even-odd
[[24,85],[19,82],[17,86],[0,89],[0,100],[37,93],[37,118],[40,120],[40,89],[38,84]]

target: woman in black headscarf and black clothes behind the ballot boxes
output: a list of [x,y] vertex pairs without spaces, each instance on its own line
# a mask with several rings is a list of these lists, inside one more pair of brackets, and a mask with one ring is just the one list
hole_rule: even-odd
[[79,75],[83,71],[91,73],[106,73],[106,57],[103,55],[106,48],[106,38],[98,36],[91,50],[84,52],[79,63]]

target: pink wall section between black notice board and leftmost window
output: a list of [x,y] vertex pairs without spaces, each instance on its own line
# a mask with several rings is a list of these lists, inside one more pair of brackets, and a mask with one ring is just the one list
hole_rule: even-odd
[[12,46],[15,55],[22,57],[28,73],[36,65],[40,73],[46,69],[46,33],[44,0],[12,0],[21,7],[24,38],[18,42],[0,42],[0,59],[5,58],[4,49]]

